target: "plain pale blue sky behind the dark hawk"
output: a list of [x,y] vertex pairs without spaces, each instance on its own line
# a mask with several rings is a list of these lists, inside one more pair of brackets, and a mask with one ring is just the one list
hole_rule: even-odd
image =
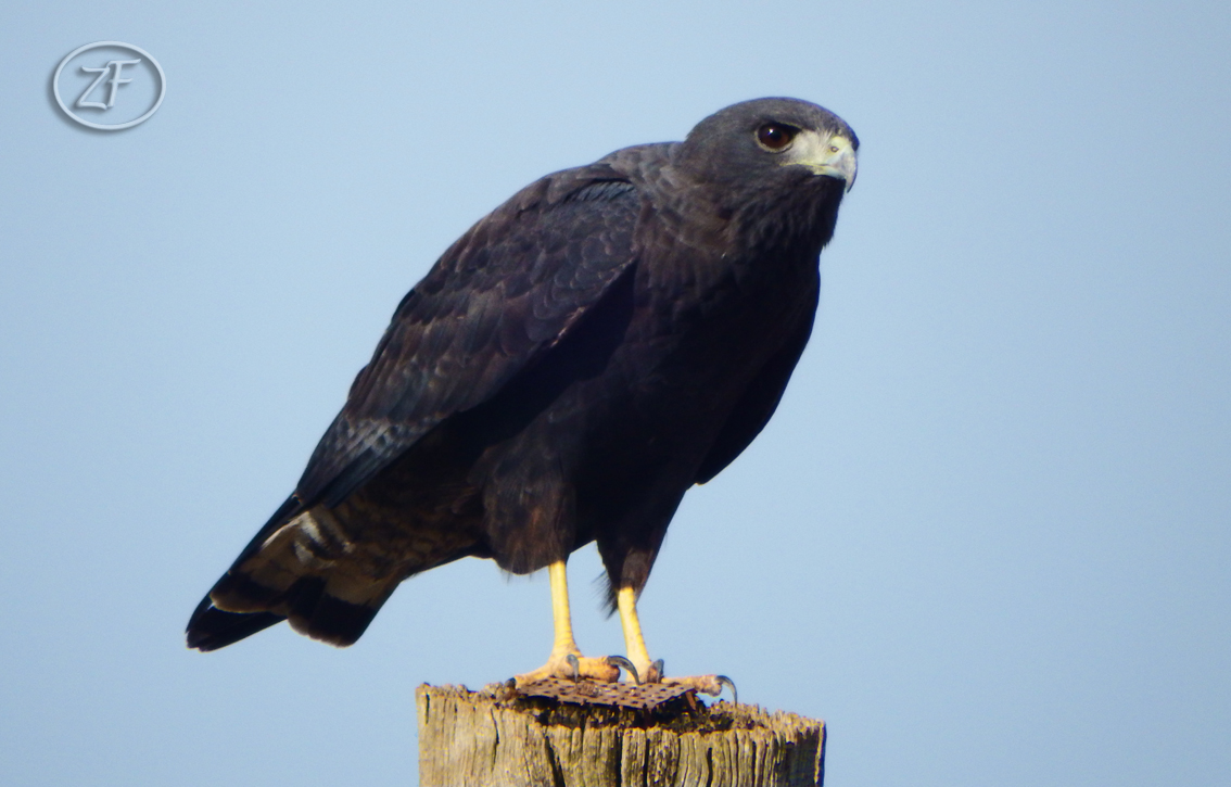
[[[167,75],[114,134],[48,91],[106,39]],[[414,783],[415,686],[540,664],[543,578],[439,569],[348,650],[188,613],[467,227],[792,95],[859,181],[651,652],[825,718],[831,787],[1231,783],[1225,2],[42,2],[0,43],[0,782]]]

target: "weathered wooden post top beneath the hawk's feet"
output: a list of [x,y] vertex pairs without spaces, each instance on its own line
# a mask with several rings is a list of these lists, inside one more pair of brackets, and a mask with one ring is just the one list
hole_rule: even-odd
[[[821,785],[825,724],[628,684],[419,687],[420,787]],[[535,685],[538,686],[538,685]],[[532,687],[533,688],[533,687]],[[670,698],[662,700],[664,696]]]

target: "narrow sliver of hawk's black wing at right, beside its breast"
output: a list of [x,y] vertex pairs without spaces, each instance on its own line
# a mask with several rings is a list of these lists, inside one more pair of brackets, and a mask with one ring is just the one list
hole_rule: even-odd
[[816,313],[816,302],[820,296],[820,280],[814,285],[812,296],[808,299],[809,308],[803,314],[795,329],[787,336],[782,347],[769,357],[752,383],[740,397],[731,414],[718,434],[709,453],[697,468],[697,477],[693,483],[704,484],[718,475],[735,457],[744,453],[748,443],[761,434],[773,411],[778,409],[782,394],[787,389],[792,372],[808,345],[808,337],[812,334],[812,317]]

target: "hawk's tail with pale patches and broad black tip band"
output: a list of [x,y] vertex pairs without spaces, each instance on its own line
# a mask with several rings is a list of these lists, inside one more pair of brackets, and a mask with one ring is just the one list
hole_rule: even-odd
[[305,511],[292,498],[197,606],[188,647],[217,650],[282,621],[314,639],[353,644],[401,578],[362,570],[348,547],[327,511]]

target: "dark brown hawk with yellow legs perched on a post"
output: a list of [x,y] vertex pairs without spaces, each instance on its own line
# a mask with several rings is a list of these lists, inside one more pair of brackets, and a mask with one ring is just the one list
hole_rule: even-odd
[[[664,679],[636,599],[684,493],[778,405],[858,147],[822,107],[758,99],[513,195],[403,299],[188,645],[283,620],[350,645],[403,580],[480,557],[549,571],[554,643],[519,681],[618,680],[630,664],[639,681],[713,687]],[[627,658],[574,642],[565,562],[590,542]]]

